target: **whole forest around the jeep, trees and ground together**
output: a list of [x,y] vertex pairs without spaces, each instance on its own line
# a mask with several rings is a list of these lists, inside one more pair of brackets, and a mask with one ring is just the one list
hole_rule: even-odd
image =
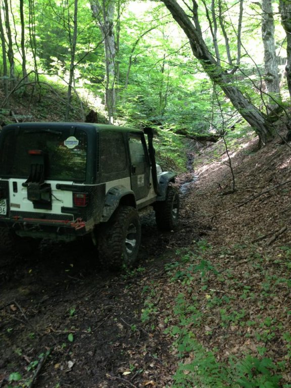
[[1,0],[0,36],[1,127],[153,128],[181,197],[122,274],[0,258],[0,386],[291,387],[290,0]]

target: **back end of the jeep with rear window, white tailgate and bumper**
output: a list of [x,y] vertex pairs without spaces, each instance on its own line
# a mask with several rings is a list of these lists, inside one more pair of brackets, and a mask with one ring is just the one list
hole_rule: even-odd
[[0,133],[0,227],[64,240],[93,230],[96,137],[90,124],[7,125]]

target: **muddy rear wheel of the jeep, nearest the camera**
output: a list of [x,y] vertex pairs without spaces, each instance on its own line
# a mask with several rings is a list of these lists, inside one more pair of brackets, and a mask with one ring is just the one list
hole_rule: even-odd
[[120,270],[130,267],[140,245],[140,220],[136,209],[120,207],[111,222],[98,231],[99,257],[105,268]]

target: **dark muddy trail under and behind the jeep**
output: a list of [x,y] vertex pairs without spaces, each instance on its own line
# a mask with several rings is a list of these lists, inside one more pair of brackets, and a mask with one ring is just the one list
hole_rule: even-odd
[[88,242],[43,243],[32,257],[2,257],[0,386],[11,373],[25,387],[33,375],[41,387],[169,384],[170,344],[140,316],[171,252],[193,238],[183,216],[176,233],[159,232],[154,214],[144,216],[138,267],[121,274],[103,271]]

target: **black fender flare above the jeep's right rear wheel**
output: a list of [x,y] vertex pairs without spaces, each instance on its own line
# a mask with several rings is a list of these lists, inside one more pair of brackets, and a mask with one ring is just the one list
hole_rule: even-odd
[[107,222],[120,204],[136,208],[134,192],[122,185],[111,187],[106,193],[101,222]]

